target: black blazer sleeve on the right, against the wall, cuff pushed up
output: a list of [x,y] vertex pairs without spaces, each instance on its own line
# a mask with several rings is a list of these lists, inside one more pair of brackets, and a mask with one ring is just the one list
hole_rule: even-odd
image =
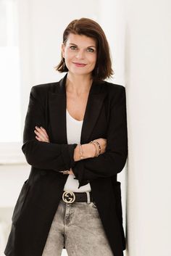
[[115,176],[124,168],[128,156],[128,132],[125,87],[112,96],[107,128],[107,148],[99,157],[81,160],[72,168],[79,187],[96,178]]

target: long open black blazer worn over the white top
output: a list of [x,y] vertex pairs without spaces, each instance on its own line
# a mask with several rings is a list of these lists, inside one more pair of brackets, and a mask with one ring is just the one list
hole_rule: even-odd
[[[59,171],[70,168],[79,186],[90,183],[114,256],[122,256],[125,249],[117,181],[117,173],[124,168],[128,155],[125,88],[106,81],[93,82],[80,143],[105,138],[107,149],[99,157],[75,162],[73,153],[77,144],[67,144],[66,77],[56,83],[33,86],[30,92],[22,151],[32,167],[14,207],[5,249],[7,256],[42,255],[67,181],[67,175]],[[36,125],[46,129],[51,143],[36,140]]]

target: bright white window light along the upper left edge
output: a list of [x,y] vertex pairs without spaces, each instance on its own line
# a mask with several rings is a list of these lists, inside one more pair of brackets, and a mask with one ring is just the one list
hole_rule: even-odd
[[0,0],[0,142],[21,141],[17,1]]

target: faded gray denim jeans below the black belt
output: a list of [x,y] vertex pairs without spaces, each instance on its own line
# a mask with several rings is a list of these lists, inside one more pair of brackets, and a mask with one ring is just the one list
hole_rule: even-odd
[[59,202],[42,256],[113,256],[96,205]]

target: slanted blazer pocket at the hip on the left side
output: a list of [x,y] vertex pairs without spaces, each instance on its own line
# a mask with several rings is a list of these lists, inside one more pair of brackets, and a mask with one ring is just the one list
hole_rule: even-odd
[[25,183],[23,184],[22,186],[22,189],[20,191],[20,195],[17,199],[17,203],[14,207],[14,212],[13,212],[13,215],[12,215],[12,223],[16,223],[18,218],[20,217],[20,214],[22,212],[22,207],[23,205],[25,204],[25,200],[28,196],[28,191],[29,191],[29,184],[28,184],[28,180],[25,181]]

